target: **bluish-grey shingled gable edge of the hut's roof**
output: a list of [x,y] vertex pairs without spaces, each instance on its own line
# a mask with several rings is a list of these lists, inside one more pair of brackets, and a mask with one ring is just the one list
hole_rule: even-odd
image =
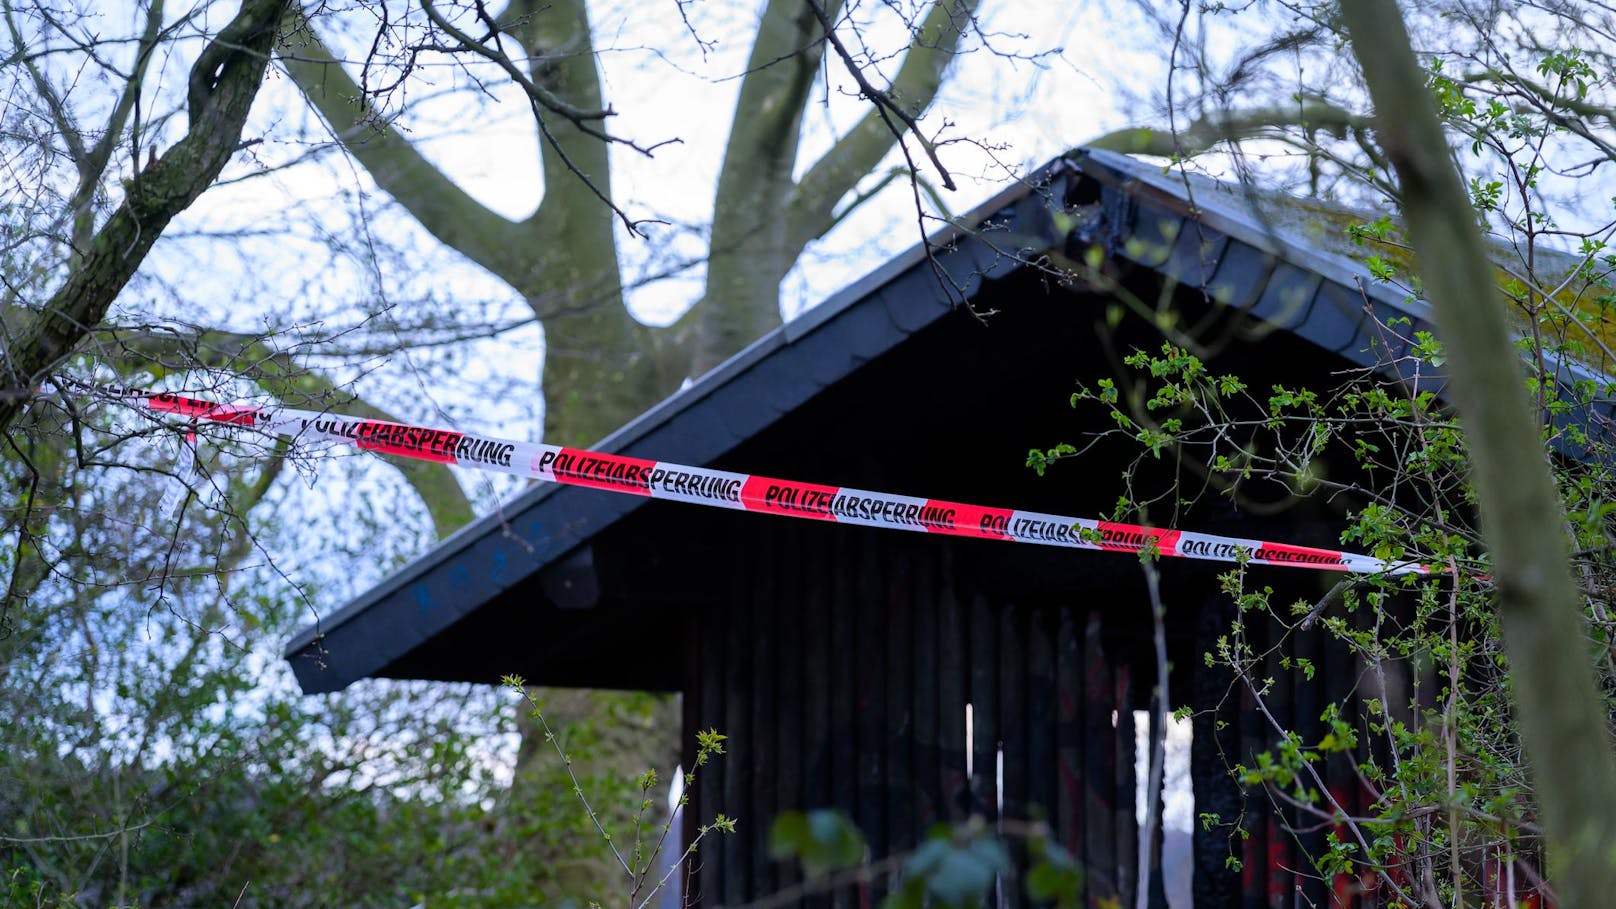
[[[1398,362],[1406,353],[1398,345],[1406,343],[1393,338],[1393,349],[1377,348],[1383,336],[1377,325],[1406,317],[1412,325],[1399,335],[1412,336],[1430,328],[1427,306],[1375,283],[1332,249],[1332,231],[1338,238],[1345,226],[1298,239],[1315,222],[1288,205],[1125,155],[1078,150],[932,238],[942,249],[936,257],[921,246],[895,257],[596,448],[709,464],[949,315],[984,281],[1037,267],[1050,251],[1083,260],[1096,246],[1113,262],[1201,288],[1351,362]],[[645,501],[575,487],[530,488],[301,629],[286,647],[299,684],[307,692],[336,691],[381,673],[516,584],[562,564]],[[540,586],[551,600],[567,597],[543,576]]]

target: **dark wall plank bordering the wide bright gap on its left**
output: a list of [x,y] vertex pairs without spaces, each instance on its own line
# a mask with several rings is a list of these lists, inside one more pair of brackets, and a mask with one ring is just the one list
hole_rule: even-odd
[[1091,611],[1083,631],[1084,773],[1083,835],[1089,869],[1089,904],[1118,899],[1117,880],[1117,708],[1115,668],[1100,644],[1100,616]]

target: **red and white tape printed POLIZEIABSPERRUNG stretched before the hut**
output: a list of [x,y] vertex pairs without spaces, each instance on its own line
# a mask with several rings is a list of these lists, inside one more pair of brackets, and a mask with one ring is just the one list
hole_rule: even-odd
[[986,508],[941,498],[916,498],[853,487],[831,487],[732,474],[667,461],[646,461],[538,442],[488,438],[451,429],[367,421],[318,411],[215,404],[199,398],[95,385],[160,414],[247,427],[294,440],[330,440],[364,451],[459,464],[537,480],[688,501],[737,511],[763,511],[950,537],[1042,543],[1076,550],[1141,553],[1209,561],[1239,561],[1354,574],[1429,574],[1432,566],[1388,561],[1351,552],[1294,547],[1267,540],[1164,531],[1141,524],[1067,518],[1039,511]]

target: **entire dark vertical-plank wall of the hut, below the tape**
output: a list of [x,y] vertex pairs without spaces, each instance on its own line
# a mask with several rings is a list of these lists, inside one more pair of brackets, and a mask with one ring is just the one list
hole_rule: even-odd
[[[1136,904],[1133,712],[1147,705],[1154,678],[1136,566],[1107,576],[1104,566],[1122,564],[1110,556],[1052,587],[1046,566],[1016,573],[997,561],[1025,547],[806,521],[742,527],[708,543],[722,558],[711,576],[727,589],[687,607],[687,741],[698,728],[729,736],[727,754],[700,772],[687,830],[716,814],[737,820],[735,835],[698,852],[692,898],[719,906],[790,893],[802,880],[768,857],[769,823],[832,807],[860,827],[874,862],[911,851],[936,823],[1047,822],[1086,869],[1088,906]],[[1181,576],[1168,600],[1170,631],[1181,634],[1170,644],[1173,705],[1196,713],[1196,909],[1380,904],[1372,880],[1366,888],[1312,870],[1340,830],[1275,807],[1227,770],[1272,747],[1275,721],[1317,742],[1325,704],[1366,694],[1361,663],[1319,631],[1248,616],[1249,644],[1270,653],[1264,676],[1277,679],[1270,721],[1244,686],[1201,658],[1235,619],[1212,590],[1206,577]],[[1311,660],[1314,679],[1283,670],[1283,653]],[[1322,773],[1341,809],[1362,815],[1370,797],[1354,763],[1333,755]],[[1202,825],[1207,814],[1222,823]],[[1162,909],[1152,883],[1147,904]],[[803,903],[861,907],[882,894],[874,882]],[[995,904],[1021,901],[1005,888]]]

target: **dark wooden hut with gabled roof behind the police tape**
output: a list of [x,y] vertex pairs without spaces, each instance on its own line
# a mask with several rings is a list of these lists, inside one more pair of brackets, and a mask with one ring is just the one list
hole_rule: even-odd
[[[1092,430],[1070,406],[1075,383],[1110,375],[1160,335],[1115,296],[1063,281],[1047,267],[1057,257],[1097,256],[1126,293],[1183,322],[1222,314],[1260,327],[1231,333],[1214,362],[1254,385],[1332,383],[1401,353],[1372,349],[1377,320],[1427,325],[1422,304],[1298,235],[1286,212],[1122,155],[1068,155],[963,223],[937,238],[936,257],[897,257],[598,448],[1096,516],[1117,501],[1131,445],[1092,446],[1044,477],[1026,469],[1026,453]],[[1336,521],[1217,505],[1183,518],[1197,531],[1325,547]],[[1267,733],[1241,715],[1238,694],[1223,697],[1227,679],[1197,673],[1197,653],[1231,618],[1218,571],[1164,564],[1170,697],[1207,717],[1197,810],[1238,812],[1218,749],[1249,752]],[[1314,598],[1332,581],[1264,574]],[[708,904],[792,882],[766,854],[768,818],[839,807],[877,859],[910,849],[934,822],[1044,818],[1088,869],[1091,904],[1133,906],[1133,710],[1154,678],[1149,641],[1146,586],[1126,555],[540,485],[304,629],[286,653],[309,692],[503,673],[680,692],[685,738],[718,728],[732,744],[703,780],[696,815],[743,818],[740,835],[703,852],[693,891]],[[1278,708],[1317,717],[1317,699],[1349,686],[1354,668],[1317,639],[1298,645],[1324,671]],[[1338,781],[1349,799],[1349,768]],[[1233,846],[1244,872],[1223,860],[1227,836],[1197,835],[1197,909],[1324,906],[1345,886],[1293,873],[1309,841],[1293,843],[1283,818],[1251,827]]]

